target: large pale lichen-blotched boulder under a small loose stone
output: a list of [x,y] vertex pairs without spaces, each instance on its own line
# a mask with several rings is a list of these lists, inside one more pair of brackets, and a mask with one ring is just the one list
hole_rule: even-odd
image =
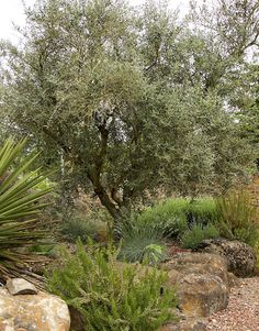
[[58,297],[38,295],[12,296],[0,288],[1,331],[68,331],[70,317],[67,305]]

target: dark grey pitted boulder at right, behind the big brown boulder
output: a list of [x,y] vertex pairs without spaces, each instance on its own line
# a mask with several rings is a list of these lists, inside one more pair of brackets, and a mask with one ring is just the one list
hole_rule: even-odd
[[198,250],[224,256],[228,272],[237,277],[247,277],[255,273],[256,254],[250,246],[243,242],[226,239],[204,240]]

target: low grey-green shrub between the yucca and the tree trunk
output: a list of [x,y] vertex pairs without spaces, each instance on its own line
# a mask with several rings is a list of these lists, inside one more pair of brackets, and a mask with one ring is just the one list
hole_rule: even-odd
[[106,223],[90,217],[76,216],[63,222],[60,233],[71,243],[76,243],[78,239],[87,243],[89,236],[94,241],[105,241]]

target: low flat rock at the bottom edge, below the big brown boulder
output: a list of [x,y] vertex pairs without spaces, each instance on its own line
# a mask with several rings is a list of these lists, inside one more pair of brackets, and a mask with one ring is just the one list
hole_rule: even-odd
[[179,323],[168,323],[158,331],[206,331],[206,323],[201,319],[188,319]]

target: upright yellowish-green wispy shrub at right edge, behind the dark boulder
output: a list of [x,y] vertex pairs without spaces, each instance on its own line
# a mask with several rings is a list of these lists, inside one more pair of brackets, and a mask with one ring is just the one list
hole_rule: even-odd
[[246,191],[230,192],[216,200],[221,235],[251,246],[259,240],[258,211]]

